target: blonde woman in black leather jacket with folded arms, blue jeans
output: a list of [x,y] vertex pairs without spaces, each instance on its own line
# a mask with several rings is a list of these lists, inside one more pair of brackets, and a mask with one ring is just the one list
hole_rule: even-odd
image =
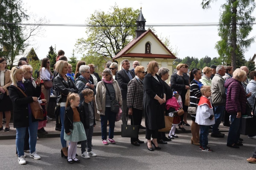
[[60,133],[60,141],[61,141],[61,157],[68,157],[67,150],[67,141],[64,139],[64,115],[65,115],[65,107],[67,96],[69,92],[78,93],[78,89],[76,88],[74,82],[71,77],[67,76],[68,73],[68,62],[59,60],[56,63],[56,71],[59,73],[54,79],[55,92],[57,96],[57,103],[60,105],[60,121],[61,121],[61,133]]

